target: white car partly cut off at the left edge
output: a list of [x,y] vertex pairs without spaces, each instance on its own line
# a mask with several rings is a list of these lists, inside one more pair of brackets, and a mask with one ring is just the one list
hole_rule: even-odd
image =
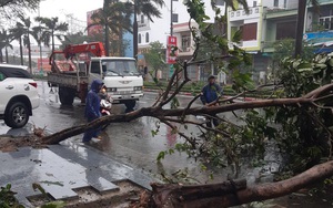
[[0,119],[23,127],[39,106],[37,83],[23,65],[0,64]]

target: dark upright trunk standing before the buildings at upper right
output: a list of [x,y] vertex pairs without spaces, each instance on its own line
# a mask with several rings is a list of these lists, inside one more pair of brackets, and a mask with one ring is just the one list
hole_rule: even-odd
[[[309,2],[319,11],[320,3],[317,0],[309,0]],[[296,24],[296,43],[295,43],[295,54],[294,58],[297,58],[302,53],[302,41],[303,41],[303,31],[304,31],[304,18],[306,10],[307,0],[299,0],[297,9],[297,24]]]

